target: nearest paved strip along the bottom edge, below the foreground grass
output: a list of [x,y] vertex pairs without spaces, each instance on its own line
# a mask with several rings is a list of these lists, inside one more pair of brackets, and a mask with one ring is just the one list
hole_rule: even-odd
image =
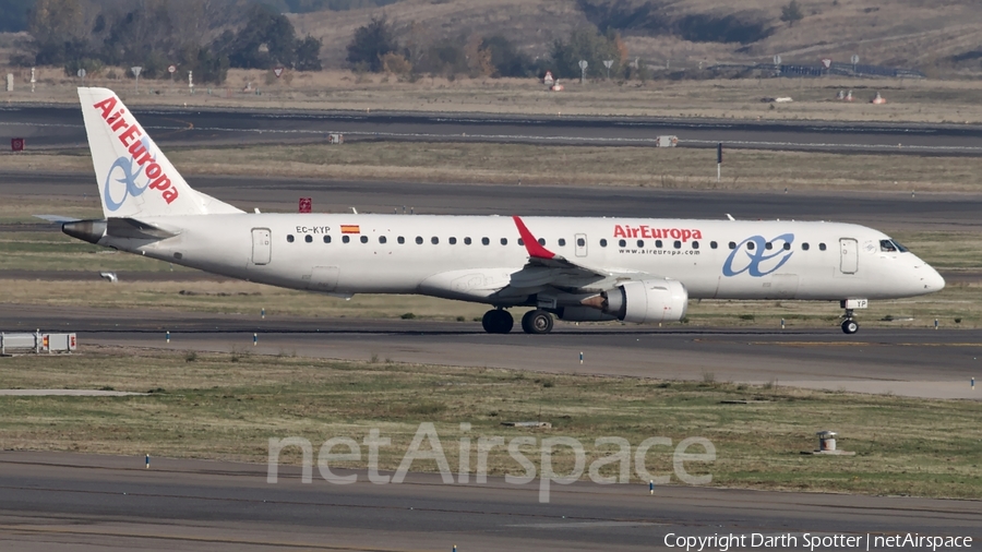
[[692,487],[649,496],[645,485],[584,482],[552,485],[542,504],[538,481],[443,484],[410,473],[371,484],[350,473],[361,482],[304,484],[284,467],[271,484],[266,466],[153,459],[147,470],[143,458],[0,453],[0,548],[634,551],[667,550],[670,533],[742,535],[750,544],[757,532],[798,539],[768,550],[802,550],[804,533],[982,537],[974,501]]

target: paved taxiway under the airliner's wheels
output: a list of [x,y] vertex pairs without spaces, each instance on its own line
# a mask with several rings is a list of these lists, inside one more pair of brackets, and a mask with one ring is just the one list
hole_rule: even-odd
[[[558,323],[553,334],[486,334],[475,322],[301,319],[8,304],[0,331],[69,331],[82,344],[768,383],[982,400],[982,331],[659,329]],[[165,331],[171,341],[165,344]],[[253,346],[253,334],[259,345]],[[584,363],[579,363],[579,353]],[[938,361],[938,359],[944,359]],[[982,382],[982,381],[980,381]],[[980,383],[982,387],[982,383]]]

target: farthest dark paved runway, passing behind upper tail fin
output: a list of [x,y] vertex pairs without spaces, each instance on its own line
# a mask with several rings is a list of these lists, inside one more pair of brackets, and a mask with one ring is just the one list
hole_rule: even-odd
[[[979,155],[982,125],[830,122],[733,122],[638,117],[481,116],[137,108],[134,113],[164,145],[321,142],[346,140],[654,145],[661,134],[680,145],[759,149]],[[84,146],[81,110],[69,106],[0,107],[0,133],[27,139],[31,148]],[[902,147],[898,147],[901,145]]]

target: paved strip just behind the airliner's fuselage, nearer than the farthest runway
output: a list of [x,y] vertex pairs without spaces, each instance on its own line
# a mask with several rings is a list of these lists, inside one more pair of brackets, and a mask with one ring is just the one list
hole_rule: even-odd
[[[0,193],[93,197],[91,175],[0,172]],[[896,228],[965,229],[982,227],[982,194],[951,193],[783,193],[750,191],[672,191],[638,188],[535,187],[516,184],[426,184],[299,178],[199,176],[195,189],[242,209],[292,212],[309,196],[314,211],[407,212],[462,215],[622,216],[724,219],[836,220]],[[16,228],[7,225],[3,229]]]

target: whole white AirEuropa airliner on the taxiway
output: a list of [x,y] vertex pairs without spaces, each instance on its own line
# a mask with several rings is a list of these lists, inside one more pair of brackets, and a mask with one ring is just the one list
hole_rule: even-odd
[[690,299],[840,301],[842,331],[869,300],[938,291],[927,263],[872,228],[663,218],[244,213],[193,190],[109,89],[79,88],[104,219],[69,236],[292,289],[419,293],[508,308],[529,334],[565,321],[685,316]]

